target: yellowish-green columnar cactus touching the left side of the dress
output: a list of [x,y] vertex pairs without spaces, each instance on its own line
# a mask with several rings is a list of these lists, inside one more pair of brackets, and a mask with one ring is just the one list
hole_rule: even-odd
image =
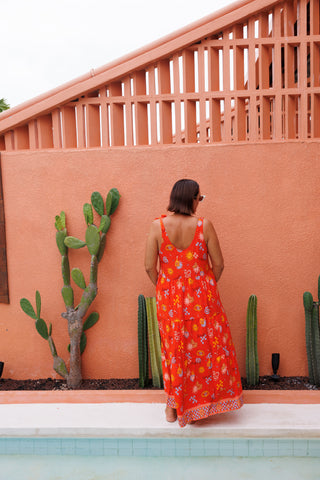
[[154,387],[162,388],[161,342],[155,297],[146,298],[146,309],[152,384]]

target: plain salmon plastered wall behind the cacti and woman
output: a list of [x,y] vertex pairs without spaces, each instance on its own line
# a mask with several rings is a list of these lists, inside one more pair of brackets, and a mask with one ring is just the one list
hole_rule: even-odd
[[[69,235],[84,238],[82,206],[92,191],[122,195],[99,265],[84,378],[138,376],[137,297],[155,294],[144,272],[150,222],[166,212],[173,183],[196,179],[225,258],[219,290],[245,376],[246,308],[258,297],[260,374],[307,374],[302,294],[316,293],[320,273],[319,143],[113,148],[2,154],[10,304],[0,304],[0,360],[5,378],[57,377],[49,347],[19,306],[42,295],[42,317],[53,324],[67,359],[67,325],[54,217],[66,212]],[[70,252],[71,267],[88,278],[86,249]],[[75,287],[75,290],[77,287]]]

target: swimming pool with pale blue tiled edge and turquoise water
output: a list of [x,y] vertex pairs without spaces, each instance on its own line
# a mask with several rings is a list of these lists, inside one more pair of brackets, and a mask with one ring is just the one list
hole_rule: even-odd
[[1,438],[0,480],[319,480],[320,440]]

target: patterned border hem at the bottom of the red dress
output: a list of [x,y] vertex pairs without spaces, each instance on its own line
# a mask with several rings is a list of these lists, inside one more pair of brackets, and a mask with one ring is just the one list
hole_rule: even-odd
[[[176,408],[176,402],[174,396],[168,396],[167,406]],[[191,422],[203,420],[204,418],[217,415],[219,413],[227,413],[233,410],[238,410],[243,406],[243,396],[242,394],[234,398],[225,398],[219,400],[218,402],[206,403],[203,405],[198,405],[194,408],[190,408],[183,415],[178,416],[178,422],[180,427],[185,427]]]

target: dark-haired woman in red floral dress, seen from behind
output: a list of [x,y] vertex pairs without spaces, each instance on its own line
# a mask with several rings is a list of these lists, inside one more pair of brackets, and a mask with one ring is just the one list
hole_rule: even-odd
[[157,292],[166,419],[178,418],[181,427],[243,403],[216,284],[224,267],[218,237],[209,220],[195,216],[203,199],[197,182],[176,182],[168,206],[172,215],[152,223],[145,255]]

